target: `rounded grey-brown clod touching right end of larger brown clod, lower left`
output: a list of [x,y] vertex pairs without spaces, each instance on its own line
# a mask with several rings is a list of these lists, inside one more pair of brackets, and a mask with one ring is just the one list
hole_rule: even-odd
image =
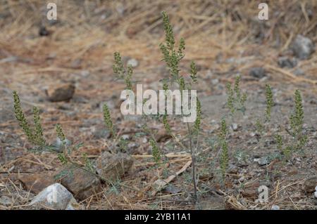
[[116,180],[127,173],[133,164],[128,154],[104,152],[97,159],[97,173],[105,180]]

